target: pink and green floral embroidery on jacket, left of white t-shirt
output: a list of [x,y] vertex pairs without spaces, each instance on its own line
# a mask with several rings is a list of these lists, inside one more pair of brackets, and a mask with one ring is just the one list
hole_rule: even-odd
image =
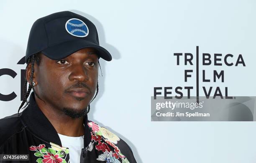
[[[51,148],[45,148],[44,144],[40,144],[38,146],[30,146],[29,150],[36,151],[34,153],[35,156],[39,157],[36,162],[37,163],[67,163],[65,158],[67,157],[67,153],[69,153],[69,149],[65,147],[60,147],[54,143],[50,143]],[[64,156],[66,157],[64,158]]]

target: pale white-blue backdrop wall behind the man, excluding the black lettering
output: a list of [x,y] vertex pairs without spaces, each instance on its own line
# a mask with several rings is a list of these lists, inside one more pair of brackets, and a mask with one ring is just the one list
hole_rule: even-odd
[[[20,106],[20,69],[33,22],[70,10],[95,23],[100,44],[113,56],[101,60],[100,92],[91,120],[113,131],[133,149],[138,163],[254,163],[254,122],[151,122],[154,87],[186,85],[173,53],[243,55],[246,67],[223,67],[229,95],[255,96],[256,2],[253,0],[42,0],[0,5],[0,68],[18,75],[0,77],[0,118]],[[235,60],[235,59],[234,59]],[[212,67],[206,67],[212,70]],[[195,83],[190,83],[194,85]],[[200,95],[203,92],[200,92]],[[192,95],[195,95],[195,93]],[[117,116],[118,115],[118,116]]]

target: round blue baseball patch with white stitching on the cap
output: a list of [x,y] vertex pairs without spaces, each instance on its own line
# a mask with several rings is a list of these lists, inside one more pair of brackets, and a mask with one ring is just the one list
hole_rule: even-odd
[[89,33],[87,25],[79,19],[72,18],[66,22],[65,28],[70,35],[77,37],[85,37]]

